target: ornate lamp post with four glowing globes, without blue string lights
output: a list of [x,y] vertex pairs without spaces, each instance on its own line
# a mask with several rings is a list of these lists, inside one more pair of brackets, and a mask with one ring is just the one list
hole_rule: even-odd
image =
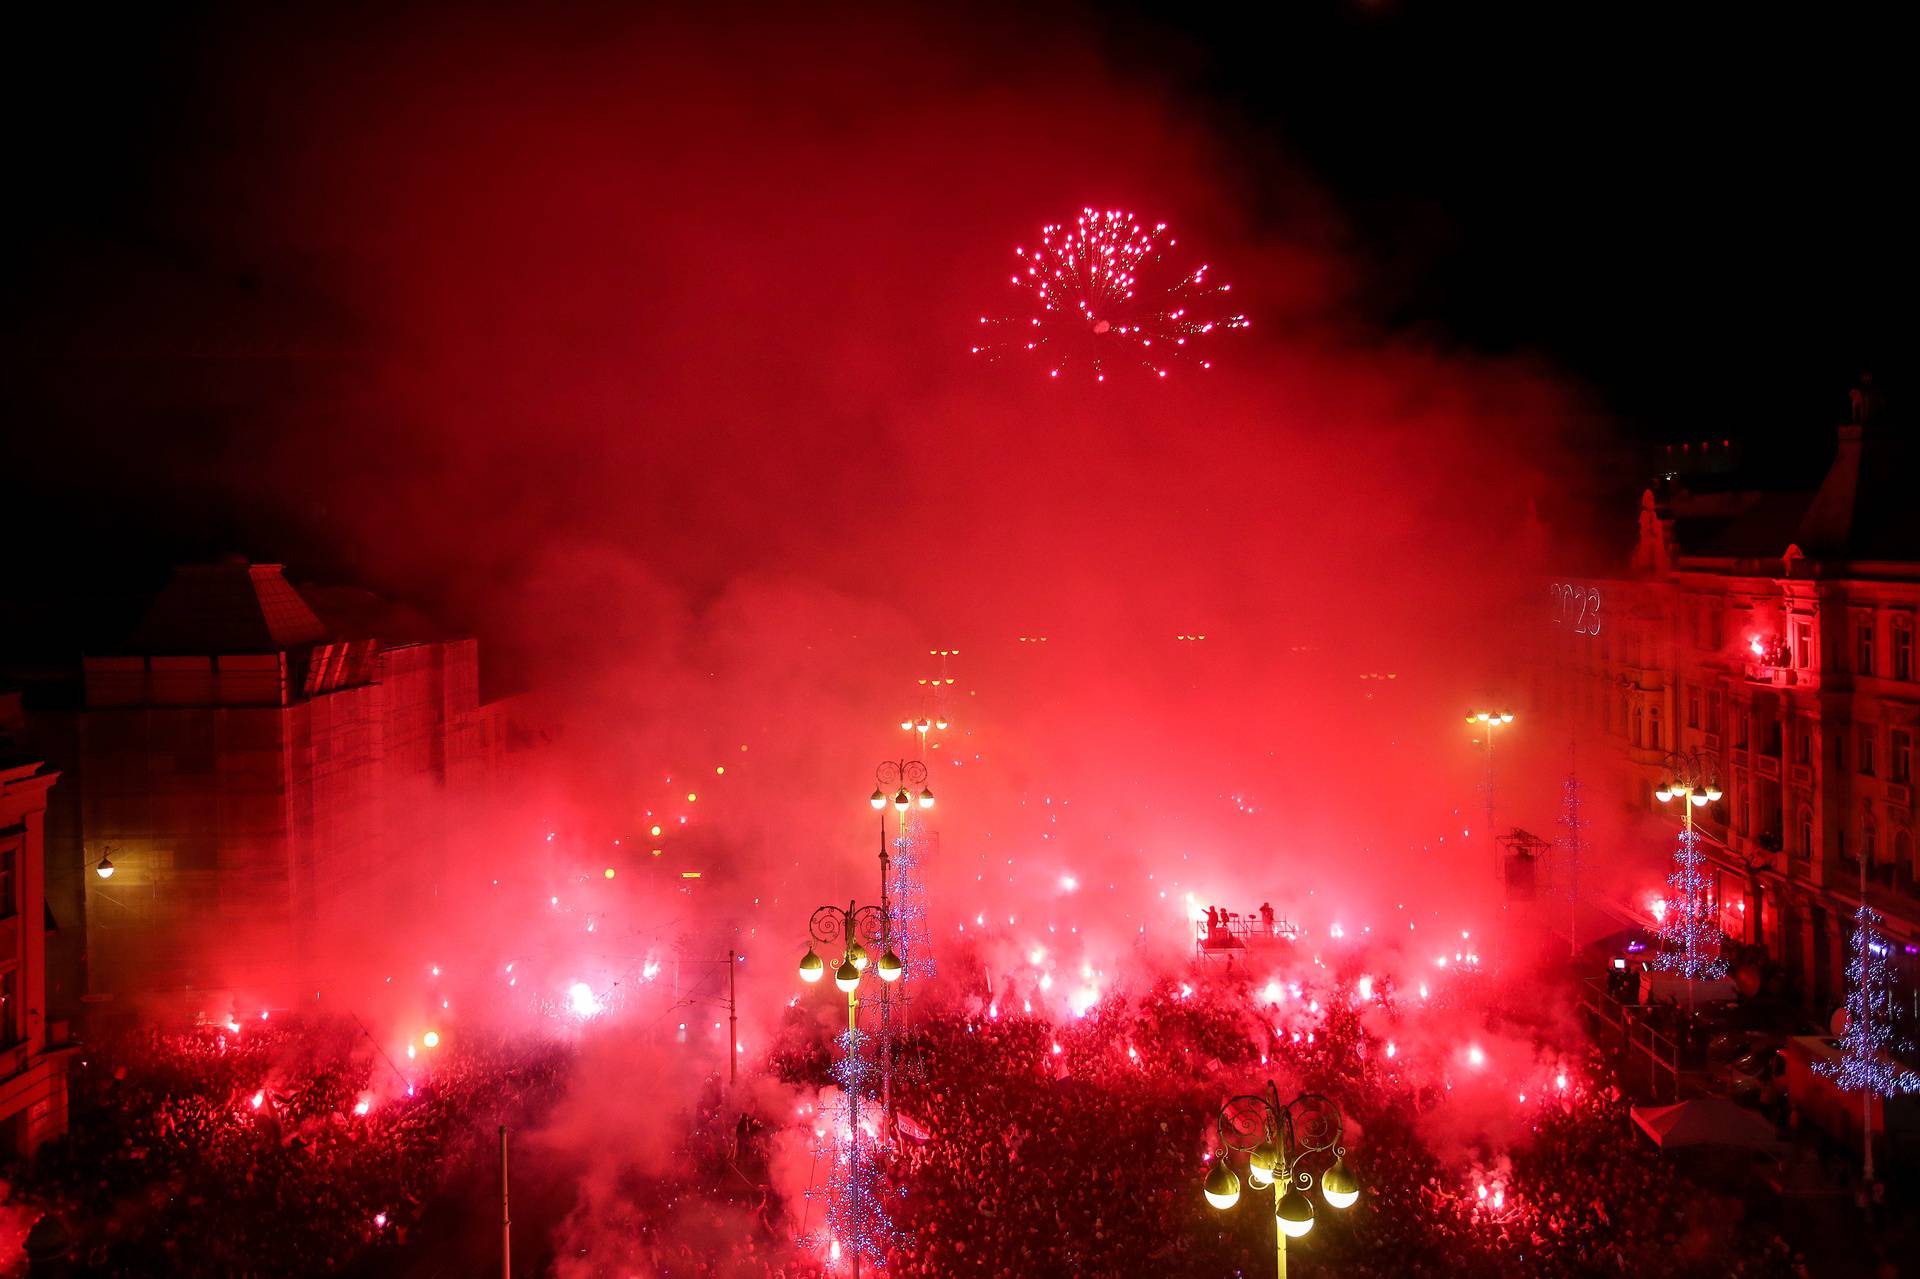
[[1286,1241],[1313,1229],[1308,1191],[1315,1179],[1331,1208],[1352,1208],[1359,1200],[1359,1179],[1348,1170],[1346,1146],[1340,1145],[1346,1118],[1331,1098],[1302,1093],[1283,1104],[1273,1079],[1267,1079],[1265,1093],[1229,1097],[1219,1108],[1221,1152],[1206,1175],[1206,1202],[1221,1212],[1240,1202],[1240,1175],[1233,1164],[1246,1158],[1252,1187],[1273,1191],[1279,1279],[1286,1279]]

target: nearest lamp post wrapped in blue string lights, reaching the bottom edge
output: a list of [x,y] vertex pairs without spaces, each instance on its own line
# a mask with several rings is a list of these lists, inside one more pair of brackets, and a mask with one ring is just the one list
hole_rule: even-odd
[[868,972],[868,947],[879,947],[881,991],[900,979],[900,956],[887,947],[885,906],[820,906],[808,922],[810,943],[801,956],[801,979],[820,981],[826,974],[826,960],[812,943],[841,943],[841,958],[833,968],[833,985],[847,995],[847,1033],[841,1035],[841,1058],[833,1064],[833,1079],[841,1085],[841,1110],[833,1116],[833,1179],[828,1195],[828,1248],[837,1248],[851,1258],[854,1279],[860,1277],[860,1260],[879,1262],[887,1254],[893,1223],[887,1218],[879,1160],[874,1154],[862,1158],[860,1127],[866,1122],[860,1097],[868,1089],[872,1066],[862,1052],[860,1035],[860,979]]

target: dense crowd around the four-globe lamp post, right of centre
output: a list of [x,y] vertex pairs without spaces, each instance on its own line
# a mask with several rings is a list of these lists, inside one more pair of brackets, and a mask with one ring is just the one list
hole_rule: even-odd
[[1242,1183],[1221,1212],[1202,1183],[1221,1102],[1269,1075],[1283,1100],[1325,1093],[1346,1112],[1363,1195],[1344,1212],[1317,1200],[1315,1229],[1292,1244],[1327,1273],[1805,1273],[1743,1191],[1695,1181],[1634,1131],[1594,1052],[1511,1150],[1469,1139],[1461,1166],[1423,1137],[1450,1104],[1444,1081],[1402,1074],[1348,1004],[1300,1037],[1256,1008],[1246,983],[1196,977],[1077,1020],[979,1006],[922,1018],[895,1091],[906,1118],[891,1177],[904,1193],[889,1273],[1263,1273],[1273,1200]]

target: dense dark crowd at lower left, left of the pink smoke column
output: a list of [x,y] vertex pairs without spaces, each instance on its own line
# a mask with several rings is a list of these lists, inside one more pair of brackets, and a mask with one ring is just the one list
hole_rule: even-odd
[[81,1273],[336,1273],[407,1243],[492,1120],[564,1083],[553,1041],[445,1045],[411,1070],[351,1022],[96,1033],[71,1129],[17,1193],[58,1212]]

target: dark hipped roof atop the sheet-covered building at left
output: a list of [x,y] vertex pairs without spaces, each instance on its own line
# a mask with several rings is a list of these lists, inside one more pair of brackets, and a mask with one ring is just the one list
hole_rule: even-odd
[[280,565],[180,565],[127,640],[129,653],[196,657],[284,653],[328,640]]

